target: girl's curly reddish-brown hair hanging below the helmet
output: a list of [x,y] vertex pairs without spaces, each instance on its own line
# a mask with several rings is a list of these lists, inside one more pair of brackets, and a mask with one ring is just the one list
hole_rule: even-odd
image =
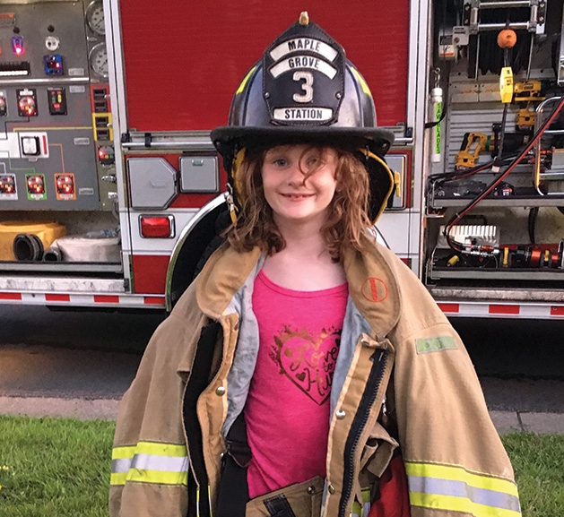
[[[325,160],[325,152],[333,149],[337,155],[334,198],[329,205],[327,220],[321,228],[327,251],[334,262],[343,256],[343,248],[353,246],[363,250],[360,236],[371,226],[369,207],[369,175],[360,159],[351,151],[338,147],[312,144],[320,152],[317,167],[304,171],[304,181],[315,174]],[[262,168],[268,149],[247,150],[245,159],[237,172],[239,213],[236,226],[226,230],[230,245],[239,252],[250,251],[259,246],[269,254],[275,254],[286,246],[280,230],[273,220],[273,210],[265,199]]]

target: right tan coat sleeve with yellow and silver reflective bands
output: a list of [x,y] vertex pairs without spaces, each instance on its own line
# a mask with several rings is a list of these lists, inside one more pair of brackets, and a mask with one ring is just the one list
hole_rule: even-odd
[[394,389],[412,517],[518,517],[513,469],[464,344],[426,289],[411,298]]

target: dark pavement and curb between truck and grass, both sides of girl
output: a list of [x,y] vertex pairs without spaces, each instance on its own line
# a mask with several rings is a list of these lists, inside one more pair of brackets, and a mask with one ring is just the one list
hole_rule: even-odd
[[[0,414],[33,417],[116,419],[144,343],[159,323],[158,316],[38,309],[30,325],[28,312],[13,307],[0,315]],[[495,427],[499,433],[564,434],[564,347],[554,339],[564,335],[564,321],[486,326],[492,324],[460,321],[457,330],[472,343]]]

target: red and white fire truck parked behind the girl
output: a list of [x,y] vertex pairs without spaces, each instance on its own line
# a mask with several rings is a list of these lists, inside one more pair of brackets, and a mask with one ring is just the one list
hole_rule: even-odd
[[562,0],[3,2],[0,302],[170,309],[226,210],[209,132],[304,9],[395,133],[386,244],[447,315],[564,317]]

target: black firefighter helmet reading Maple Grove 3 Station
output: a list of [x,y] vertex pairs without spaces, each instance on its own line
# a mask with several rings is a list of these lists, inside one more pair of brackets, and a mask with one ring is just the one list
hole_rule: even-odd
[[[394,142],[377,127],[368,84],[344,49],[308,14],[266,48],[231,101],[228,125],[211,138],[233,184],[242,149],[284,142],[322,142],[359,153],[370,177],[370,216],[376,220],[394,178],[382,159]],[[234,181],[237,197],[237,178]]]

